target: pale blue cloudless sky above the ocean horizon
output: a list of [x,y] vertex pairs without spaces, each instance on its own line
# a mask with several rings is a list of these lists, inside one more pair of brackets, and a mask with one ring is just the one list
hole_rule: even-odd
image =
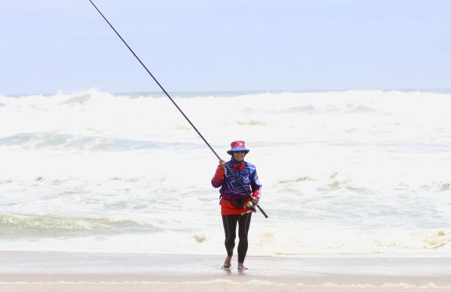
[[[95,0],[167,91],[451,89],[447,0]],[[0,94],[159,91],[88,0],[0,1]]]

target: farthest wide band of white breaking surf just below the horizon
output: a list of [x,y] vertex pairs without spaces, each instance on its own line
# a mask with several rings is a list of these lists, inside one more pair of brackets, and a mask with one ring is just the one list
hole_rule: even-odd
[[[185,94],[175,99],[194,124],[203,127],[202,132],[209,136],[217,137],[218,129],[236,132],[237,127],[244,125],[255,127],[240,129],[243,134],[264,143],[274,138],[290,143],[303,141],[305,137],[323,141],[346,137],[347,141],[365,141],[370,145],[394,141],[396,146],[397,141],[412,139],[417,145],[431,133],[434,139],[429,141],[449,144],[446,134],[449,127],[436,118],[447,114],[445,108],[451,106],[449,96],[431,92],[330,91],[232,96]],[[166,98],[152,97],[152,94],[109,94],[91,90],[51,96],[0,96],[0,103],[3,105],[0,123],[8,125],[0,130],[0,137],[9,139],[30,132],[87,139],[104,135],[124,139],[117,141],[124,147],[128,143],[135,146],[137,142],[137,148],[152,148],[152,144],[140,142],[149,135],[160,137],[162,141],[168,137],[175,141],[192,139],[188,133],[190,125],[176,108]],[[240,108],[236,108],[237,104]],[[140,138],[128,141],[128,137]],[[53,143],[64,143],[58,142],[61,138],[67,137],[54,137]],[[102,146],[109,142],[103,141]]]

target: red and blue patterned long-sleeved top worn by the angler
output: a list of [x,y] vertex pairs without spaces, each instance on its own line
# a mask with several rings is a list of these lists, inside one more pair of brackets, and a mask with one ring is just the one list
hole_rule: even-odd
[[237,208],[228,201],[230,199],[242,199],[245,202],[250,201],[247,193],[252,193],[252,196],[257,197],[260,194],[261,183],[255,165],[245,161],[238,162],[234,158],[226,162],[228,168],[235,174],[235,177],[240,180],[241,184],[245,186],[247,192],[240,186],[240,184],[232,177],[232,174],[227,169],[218,166],[216,173],[211,179],[211,185],[215,188],[221,186],[219,193],[221,193],[221,214],[235,215],[245,212],[251,212],[249,209]]

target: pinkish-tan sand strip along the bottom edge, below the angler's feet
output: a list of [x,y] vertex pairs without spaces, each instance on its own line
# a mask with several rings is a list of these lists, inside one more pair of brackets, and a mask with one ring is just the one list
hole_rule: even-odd
[[152,276],[138,274],[0,275],[0,290],[25,291],[450,291],[449,277],[247,277],[246,275]]

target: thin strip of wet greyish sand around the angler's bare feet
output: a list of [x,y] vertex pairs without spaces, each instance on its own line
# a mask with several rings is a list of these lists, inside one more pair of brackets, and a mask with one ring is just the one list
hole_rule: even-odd
[[[219,276],[226,255],[81,253],[0,250],[2,274],[151,274]],[[330,275],[451,277],[451,255],[247,255],[246,274],[265,277]],[[236,272],[234,255],[231,271]]]

